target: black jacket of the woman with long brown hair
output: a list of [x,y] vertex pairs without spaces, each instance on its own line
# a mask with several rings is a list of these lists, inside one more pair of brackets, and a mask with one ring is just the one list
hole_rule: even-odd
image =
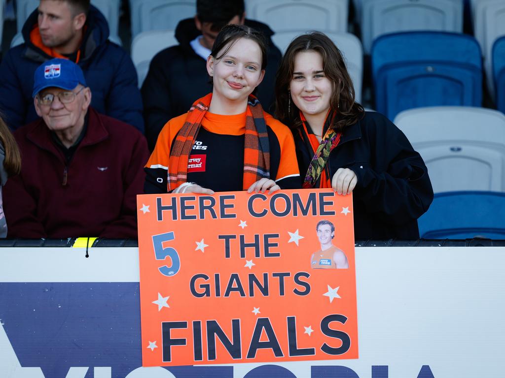
[[[300,177],[312,153],[294,133]],[[428,169],[407,137],[385,116],[365,116],[342,133],[328,160],[330,177],[340,167],[356,172],[353,191],[356,240],[419,239],[417,219],[433,201]]]

